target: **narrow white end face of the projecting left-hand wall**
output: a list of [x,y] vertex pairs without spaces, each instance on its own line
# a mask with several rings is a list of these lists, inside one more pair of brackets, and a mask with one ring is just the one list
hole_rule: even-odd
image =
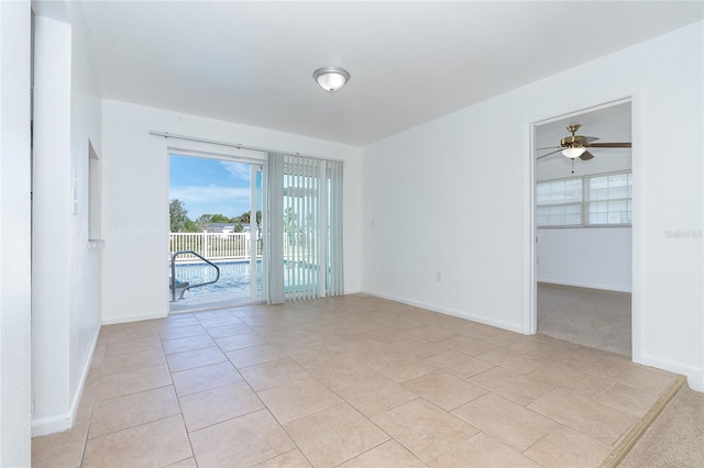
[[[32,155],[32,434],[70,427],[72,29],[46,16],[34,22]],[[68,425],[66,427],[65,425]],[[38,433],[43,433],[40,428]]]

